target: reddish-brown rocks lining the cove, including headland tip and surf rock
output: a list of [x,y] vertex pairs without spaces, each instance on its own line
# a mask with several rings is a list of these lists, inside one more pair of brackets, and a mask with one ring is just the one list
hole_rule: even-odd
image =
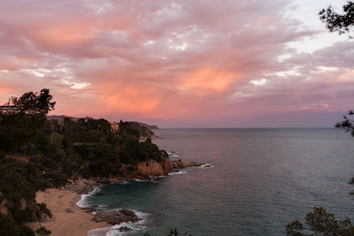
[[[64,213],[61,214],[73,214],[78,210],[81,212],[89,213],[87,217],[90,218],[91,221],[96,223],[104,224],[104,225],[120,225],[122,223],[136,223],[142,220],[142,218],[136,216],[135,212],[130,209],[119,209],[119,210],[111,210],[104,211],[99,209],[98,206],[90,206],[85,208],[80,208],[76,203],[81,200],[81,194],[89,194],[92,193],[96,187],[101,186],[103,183],[122,183],[128,179],[144,179],[149,180],[157,176],[167,176],[170,172],[180,171],[180,169],[187,167],[195,167],[205,165],[203,163],[198,162],[188,162],[184,160],[171,161],[168,158],[165,158],[161,162],[156,162],[155,160],[150,160],[148,162],[142,162],[137,165],[135,171],[126,172],[124,177],[120,178],[93,178],[93,179],[76,179],[71,181],[70,184],[62,187],[58,191],[69,191],[70,193],[75,194],[71,208],[66,207]],[[126,170],[127,166],[124,166]],[[61,196],[59,195],[59,198]],[[42,201],[45,203],[45,201]],[[52,209],[50,209],[52,210]],[[92,214],[95,212],[95,215]],[[55,225],[56,212],[54,212],[53,217],[50,219],[51,224],[46,225],[45,222],[41,222],[38,225],[49,226],[49,229],[53,231],[56,227],[51,227],[50,225]],[[49,221],[47,221],[49,222]],[[43,224],[44,223],[44,224]],[[127,226],[121,226],[119,232],[127,232],[132,231],[133,229]],[[53,235],[59,235],[60,233],[54,233]],[[86,235],[86,234],[85,234]]]

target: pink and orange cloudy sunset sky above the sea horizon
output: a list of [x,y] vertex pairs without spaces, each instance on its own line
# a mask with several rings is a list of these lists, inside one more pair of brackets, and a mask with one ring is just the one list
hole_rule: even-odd
[[354,40],[329,0],[2,0],[0,103],[160,127],[327,127],[353,109]]

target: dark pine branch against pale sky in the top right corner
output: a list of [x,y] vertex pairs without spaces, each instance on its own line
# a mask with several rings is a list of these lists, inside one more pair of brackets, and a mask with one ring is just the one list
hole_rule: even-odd
[[[354,27],[354,2],[348,1],[342,6],[344,14],[338,14],[328,6],[327,9],[319,11],[319,19],[326,23],[326,27],[330,32],[338,32],[338,34],[349,34]],[[350,38],[352,36],[350,35]]]

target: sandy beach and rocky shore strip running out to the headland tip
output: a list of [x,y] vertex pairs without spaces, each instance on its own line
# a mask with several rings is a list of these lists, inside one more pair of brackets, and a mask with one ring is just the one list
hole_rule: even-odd
[[[178,161],[170,161],[170,164],[172,168],[167,171],[167,174],[161,172],[164,176],[168,176],[170,173],[176,173],[176,171],[181,171],[181,169],[186,167],[205,165],[203,163],[187,162],[181,159]],[[151,166],[153,166],[153,164],[150,164],[150,168]],[[207,164],[207,167],[210,167],[210,165]],[[95,190],[94,187],[99,186],[99,183],[102,182],[121,183],[122,181],[129,179],[147,180],[158,176],[161,176],[159,172],[158,174],[155,173],[155,175],[150,175],[149,178],[144,178],[144,175],[137,175],[135,178],[79,179],[65,188],[47,188],[44,191],[38,191],[35,193],[35,201],[37,203],[45,203],[52,215],[52,219],[39,223],[47,230],[50,230],[50,235],[52,236],[66,235],[67,232],[70,232],[71,235],[75,236],[86,236],[91,235],[91,233],[100,236],[105,235],[110,231],[112,224],[109,224],[106,221],[96,222],[93,219],[94,215],[92,212],[82,209],[77,204],[81,201],[82,194],[92,193],[92,191]],[[127,227],[127,229],[129,229],[129,227]]]

